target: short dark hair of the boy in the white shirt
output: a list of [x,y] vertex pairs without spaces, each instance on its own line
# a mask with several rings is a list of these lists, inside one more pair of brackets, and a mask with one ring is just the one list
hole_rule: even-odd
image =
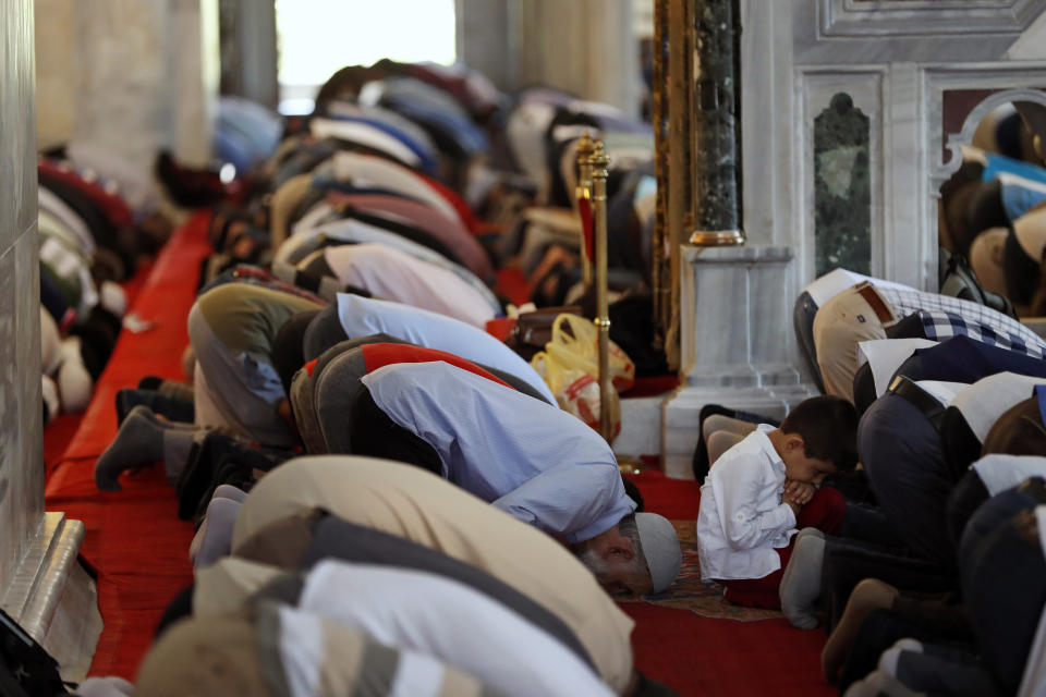
[[838,472],[858,464],[858,409],[842,398],[804,400],[781,421],[781,431],[802,436],[805,455],[830,462]]

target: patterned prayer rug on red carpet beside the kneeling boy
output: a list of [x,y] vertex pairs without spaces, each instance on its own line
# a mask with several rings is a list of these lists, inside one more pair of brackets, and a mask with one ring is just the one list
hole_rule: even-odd
[[722,597],[723,587],[701,579],[701,565],[697,561],[697,521],[672,521],[679,535],[679,545],[683,551],[683,566],[679,578],[666,590],[645,598],[620,598],[621,602],[648,602],[665,608],[690,610],[703,617],[714,620],[737,620],[755,622],[783,617],[777,610],[742,608],[731,604]]

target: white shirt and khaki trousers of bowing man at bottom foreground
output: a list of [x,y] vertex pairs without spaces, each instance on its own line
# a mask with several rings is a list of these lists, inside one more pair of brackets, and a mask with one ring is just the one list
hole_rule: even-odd
[[[215,592],[208,591],[211,584]],[[206,600],[215,596],[219,601]],[[551,635],[484,594],[437,574],[325,560],[300,575],[227,558],[197,576],[193,612],[226,614],[247,604],[248,597],[287,603],[386,646],[429,656],[475,675],[501,695],[613,694]],[[204,601],[197,604],[195,598]]]

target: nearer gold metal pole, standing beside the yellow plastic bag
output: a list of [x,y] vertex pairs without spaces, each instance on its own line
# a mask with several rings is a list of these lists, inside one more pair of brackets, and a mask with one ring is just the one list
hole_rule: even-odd
[[596,246],[596,328],[599,351],[599,433],[609,443],[613,440],[610,425],[608,395],[613,390],[610,382],[610,311],[607,303],[607,166],[610,158],[603,140],[596,140],[588,159],[592,166],[592,216],[595,222]]

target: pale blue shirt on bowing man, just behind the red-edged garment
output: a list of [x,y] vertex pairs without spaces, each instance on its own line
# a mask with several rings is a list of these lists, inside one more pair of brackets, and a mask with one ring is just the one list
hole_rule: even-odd
[[402,303],[345,293],[338,294],[338,317],[350,339],[386,333],[418,346],[446,351],[514,375],[537,390],[549,404],[556,404],[545,380],[527,362],[472,325]]

